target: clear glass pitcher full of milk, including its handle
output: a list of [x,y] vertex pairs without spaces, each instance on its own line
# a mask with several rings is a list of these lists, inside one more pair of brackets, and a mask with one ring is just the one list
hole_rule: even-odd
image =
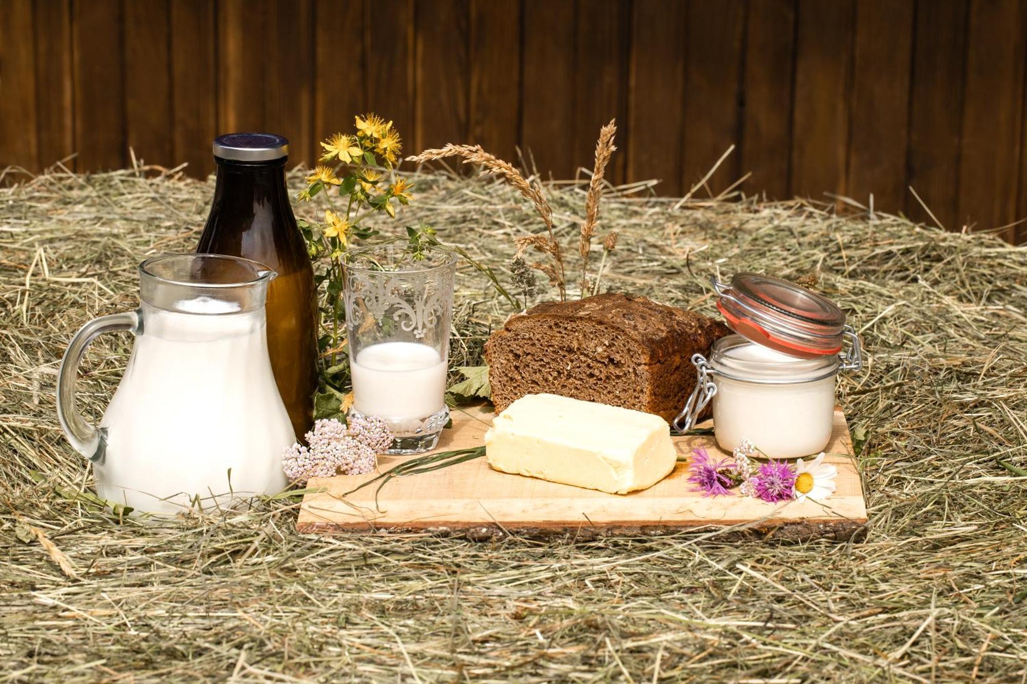
[[[140,308],[90,320],[58,376],[58,417],[92,461],[111,504],[174,514],[286,488],[281,453],[295,442],[267,352],[264,300],[275,272],[218,255],[140,264]],[[86,347],[101,334],[136,336],[100,427],[75,408]]]

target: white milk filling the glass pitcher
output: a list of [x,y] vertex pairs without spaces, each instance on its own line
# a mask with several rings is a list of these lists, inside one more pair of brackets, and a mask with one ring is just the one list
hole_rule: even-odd
[[[144,331],[101,426],[101,497],[139,510],[210,509],[286,488],[295,441],[268,359],[265,313],[207,297],[143,303]],[[189,311],[190,313],[185,313]]]

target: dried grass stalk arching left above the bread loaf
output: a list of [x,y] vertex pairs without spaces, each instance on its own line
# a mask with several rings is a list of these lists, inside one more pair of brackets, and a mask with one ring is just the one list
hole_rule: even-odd
[[548,254],[553,257],[553,266],[542,268],[542,264],[536,263],[531,264],[531,267],[545,273],[549,278],[549,282],[560,290],[560,301],[565,301],[567,299],[567,279],[564,269],[564,257],[560,250],[560,243],[553,232],[553,207],[549,206],[548,200],[545,199],[541,186],[538,183],[529,182],[512,164],[503,161],[495,155],[489,154],[482,149],[481,145],[454,145],[453,143],[448,143],[443,148],[424,150],[416,156],[407,157],[407,161],[424,163],[448,157],[460,157],[465,164],[479,164],[482,166],[481,173],[483,175],[500,176],[506,179],[510,185],[517,188],[518,192],[531,201],[538,216],[542,218],[542,222],[545,224],[548,238],[542,235],[528,235],[519,238],[517,240],[519,254],[529,246],[534,246],[538,252]]

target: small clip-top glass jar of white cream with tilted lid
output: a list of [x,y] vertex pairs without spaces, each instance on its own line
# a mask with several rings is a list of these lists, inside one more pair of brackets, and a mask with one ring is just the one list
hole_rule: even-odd
[[834,426],[838,372],[863,369],[845,314],[821,295],[766,275],[737,273],[713,287],[736,334],[717,340],[709,359],[692,356],[698,379],[675,428],[694,427],[713,402],[714,433],[725,451],[743,439],[773,458],[822,451]]

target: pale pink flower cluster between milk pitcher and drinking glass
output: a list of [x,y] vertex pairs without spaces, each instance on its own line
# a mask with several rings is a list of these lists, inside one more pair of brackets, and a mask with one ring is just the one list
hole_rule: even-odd
[[392,444],[392,433],[381,418],[354,417],[344,425],[336,419],[318,420],[305,435],[306,447],[294,444],[281,457],[281,469],[291,482],[305,485],[311,478],[363,474],[375,469],[377,454]]

